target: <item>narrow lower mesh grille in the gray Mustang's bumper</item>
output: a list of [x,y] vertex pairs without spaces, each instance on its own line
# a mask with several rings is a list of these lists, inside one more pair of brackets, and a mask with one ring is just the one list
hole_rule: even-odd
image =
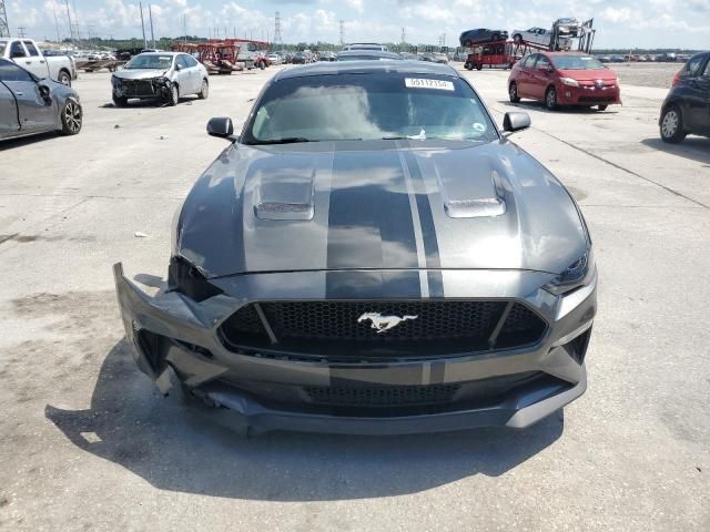
[[387,386],[373,388],[306,386],[303,390],[318,405],[398,407],[450,402],[460,385]]

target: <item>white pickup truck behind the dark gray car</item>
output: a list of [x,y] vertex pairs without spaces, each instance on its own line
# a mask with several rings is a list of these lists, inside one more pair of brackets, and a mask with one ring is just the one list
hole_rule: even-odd
[[44,57],[32,39],[0,38],[0,58],[14,61],[39,79],[51,78],[71,86],[77,79],[74,60],[68,55]]

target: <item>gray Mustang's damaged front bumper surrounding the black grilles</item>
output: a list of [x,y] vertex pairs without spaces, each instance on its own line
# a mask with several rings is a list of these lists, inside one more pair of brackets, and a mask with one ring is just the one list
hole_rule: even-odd
[[[222,294],[197,303],[178,291],[151,297],[123,275],[121,264],[114,266],[126,338],[141,371],[163,393],[172,386],[171,375],[176,376],[185,390],[217,407],[235,427],[381,434],[485,426],[524,428],[586,389],[584,358],[596,314],[596,278],[584,291],[572,294],[576,299],[565,301],[539,288],[550,277],[548,274],[444,274],[447,298],[500,297],[503,290],[506,297],[516,297],[544,316],[549,327],[542,340],[526,348],[379,362],[333,362],[241,354],[225,347],[220,325],[243,305],[323,298],[317,290],[314,293],[322,275],[304,272],[223,278],[214,280]],[[466,392],[446,405],[338,408],[314,405],[303,391],[344,385],[355,389],[376,386],[398,393],[460,386]]]

